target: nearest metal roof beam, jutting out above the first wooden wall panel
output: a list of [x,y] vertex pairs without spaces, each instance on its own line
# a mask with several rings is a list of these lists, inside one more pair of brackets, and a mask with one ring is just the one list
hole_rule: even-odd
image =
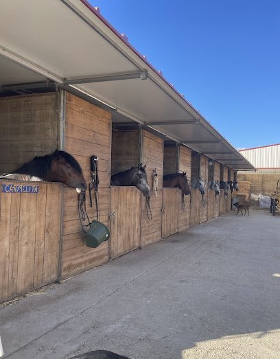
[[93,76],[90,78],[73,78],[65,80],[63,84],[92,84],[93,82],[132,80],[134,78],[146,80],[147,77],[147,71],[133,71],[128,73],[110,73],[108,75]]

